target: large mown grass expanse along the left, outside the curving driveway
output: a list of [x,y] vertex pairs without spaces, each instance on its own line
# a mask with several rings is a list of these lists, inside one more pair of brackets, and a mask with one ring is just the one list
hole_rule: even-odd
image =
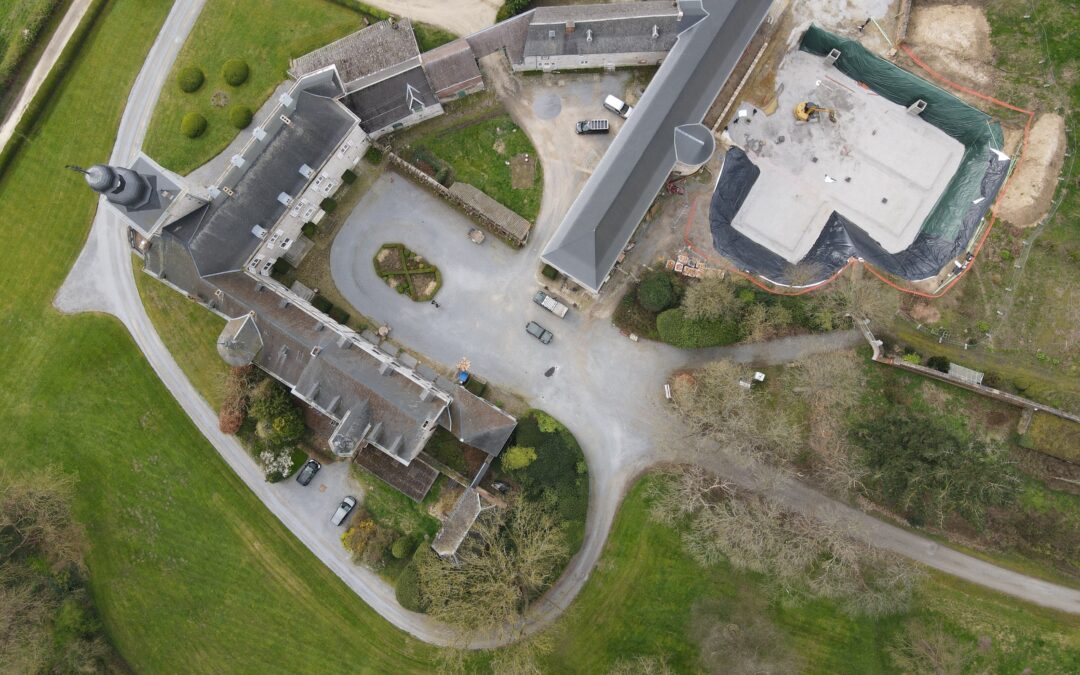
[[[76,512],[105,626],[136,672],[430,672],[244,487],[114,320],[51,300],[96,200],[65,162],[109,156],[172,3],[113,2],[0,177],[0,463],[79,477]],[[94,124],[86,124],[92,119]]]

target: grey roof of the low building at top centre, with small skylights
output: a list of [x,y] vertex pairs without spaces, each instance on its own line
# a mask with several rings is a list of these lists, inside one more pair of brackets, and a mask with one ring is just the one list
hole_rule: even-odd
[[666,52],[683,28],[674,3],[664,1],[538,8],[525,56]]

